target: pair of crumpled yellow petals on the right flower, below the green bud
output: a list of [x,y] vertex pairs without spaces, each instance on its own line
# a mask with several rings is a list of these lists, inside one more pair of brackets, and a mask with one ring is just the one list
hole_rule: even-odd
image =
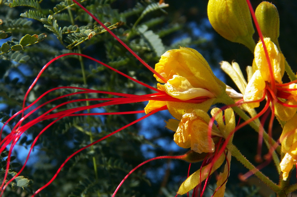
[[[276,45],[270,38],[264,38],[265,46],[268,51],[269,61],[271,62],[273,76],[270,76],[268,63],[266,60],[263,44],[261,41],[255,47],[253,70],[254,74],[246,86],[243,100],[256,101],[263,95],[265,84],[270,83],[271,80],[282,84],[282,76],[285,72],[285,57],[277,49]],[[248,103],[251,108],[259,107],[260,102]]]

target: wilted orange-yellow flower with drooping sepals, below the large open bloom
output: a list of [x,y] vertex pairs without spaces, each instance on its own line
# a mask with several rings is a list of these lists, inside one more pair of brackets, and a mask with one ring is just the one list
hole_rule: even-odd
[[[211,110],[213,118],[218,123],[218,128],[212,126],[211,136],[208,133],[210,122],[209,115],[203,110],[189,109],[180,121],[180,124],[174,134],[174,141],[182,148],[191,148],[198,153],[213,153],[215,152],[215,143],[217,144],[220,137],[228,139],[228,143],[232,142],[233,130],[235,129],[235,115],[231,108],[224,111],[225,121],[223,121],[223,112],[219,108]],[[216,146],[219,148],[219,145]],[[225,150],[227,151],[227,150]],[[216,154],[216,153],[215,153]],[[227,162],[224,172],[220,173],[215,196],[224,196],[226,180],[230,172],[231,153],[226,154]],[[224,161],[225,155],[214,155],[216,160],[203,166],[201,170],[190,175],[180,186],[178,194],[182,195],[193,189],[201,181],[205,180],[212,172],[218,169]],[[211,170],[211,171],[210,171]]]

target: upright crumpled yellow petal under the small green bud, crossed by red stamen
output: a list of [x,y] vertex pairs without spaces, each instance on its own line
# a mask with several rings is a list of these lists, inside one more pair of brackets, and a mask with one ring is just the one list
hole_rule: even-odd
[[[277,49],[276,45],[270,40],[270,38],[264,38],[265,46],[268,51],[270,58],[272,71],[273,71],[273,80],[278,83],[282,83],[282,76],[285,70],[285,59],[281,52]],[[255,66],[260,70],[262,78],[265,81],[271,82],[271,77],[269,73],[268,63],[266,60],[263,44],[261,41],[255,47]],[[254,66],[254,65],[253,65]]]

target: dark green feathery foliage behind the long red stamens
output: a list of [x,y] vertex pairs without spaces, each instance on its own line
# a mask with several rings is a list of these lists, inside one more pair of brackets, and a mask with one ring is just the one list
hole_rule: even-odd
[[[171,37],[185,28],[182,21],[171,23],[162,12],[165,5],[154,1],[135,2],[121,7],[121,1],[80,1],[90,12],[106,24],[121,40],[132,48],[143,60],[153,66],[160,55],[172,47]],[[4,4],[5,3],[5,4]],[[167,8],[166,8],[167,9]],[[90,18],[73,1],[9,0],[2,2],[0,13],[0,39],[7,39],[0,54],[0,122],[7,121],[22,109],[24,95],[41,68],[58,55],[75,52],[90,55],[113,68],[147,84],[156,84],[152,73],[143,67],[134,56]],[[168,12],[169,13],[169,12]],[[186,40],[186,41],[185,41]],[[174,46],[187,47],[197,39],[186,36]],[[164,44],[165,43],[165,44]],[[182,44],[186,43],[186,44]],[[36,86],[29,93],[25,105],[34,102],[44,92],[60,87],[72,86],[101,91],[129,94],[152,93],[149,89],[129,81],[125,77],[78,56],[66,56],[56,60],[44,71]],[[45,95],[36,106],[62,95],[76,92],[74,89],[58,89]],[[38,109],[22,125],[40,116],[47,110],[67,101],[85,98],[109,98],[104,94],[79,94],[53,101]],[[63,105],[54,112],[65,109],[94,105],[99,102],[73,102]],[[143,103],[107,106],[96,109],[105,112],[133,111],[144,108]],[[2,107],[3,106],[3,107]],[[90,111],[92,113],[92,110]],[[80,113],[88,113],[87,110]],[[4,130],[2,139],[20,120],[18,115]],[[5,196],[31,196],[45,185],[56,173],[65,159],[76,150],[125,126],[137,118],[135,115],[78,116],[65,117],[50,126],[37,140],[33,148],[32,161],[15,179]],[[163,118],[163,117],[162,117]],[[167,118],[167,117],[166,117]],[[18,141],[15,161],[10,163],[9,177],[14,176],[24,163],[25,150],[29,150],[35,137],[52,120],[41,121],[30,127]],[[145,160],[140,146],[158,147],[155,142],[138,134],[140,125],[130,126],[70,159],[54,182],[40,196],[111,196],[121,180],[135,166]],[[172,133],[164,132],[163,125],[151,128],[162,131],[160,137],[172,140]],[[19,148],[19,149],[18,149]],[[159,150],[160,149],[160,150]],[[168,155],[159,147],[158,155]],[[0,179],[4,178],[8,152],[1,154]],[[181,154],[176,151],[174,154]],[[24,155],[21,157],[21,155]],[[146,164],[147,168],[159,168],[165,164],[158,161]],[[95,167],[94,167],[95,165]],[[178,163],[177,166],[182,166]],[[180,167],[185,169],[184,166]],[[95,171],[96,169],[96,171]],[[175,170],[176,176],[184,172]],[[186,170],[185,170],[186,171]],[[161,181],[151,183],[144,167],[136,170],[124,182],[118,196],[156,196]],[[176,189],[179,183],[168,181]]]

